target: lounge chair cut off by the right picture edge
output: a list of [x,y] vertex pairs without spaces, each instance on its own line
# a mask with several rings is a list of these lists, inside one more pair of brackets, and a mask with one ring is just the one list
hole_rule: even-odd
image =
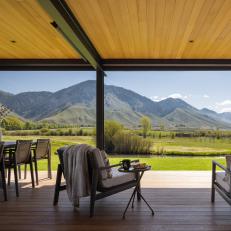
[[[217,167],[223,171],[217,171]],[[231,205],[231,171],[225,166],[212,162],[212,192],[211,201],[215,201],[217,191]]]

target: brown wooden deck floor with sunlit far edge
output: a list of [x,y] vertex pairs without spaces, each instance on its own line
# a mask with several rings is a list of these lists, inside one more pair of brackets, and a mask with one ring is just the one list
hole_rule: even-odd
[[41,180],[34,190],[22,180],[20,197],[12,185],[9,201],[0,202],[0,230],[231,230],[231,207],[218,195],[210,203],[210,182],[209,172],[149,172],[142,191],[155,216],[141,202],[122,220],[130,190],[98,201],[95,217],[89,218],[88,199],[74,211],[62,192],[54,207],[54,180]]

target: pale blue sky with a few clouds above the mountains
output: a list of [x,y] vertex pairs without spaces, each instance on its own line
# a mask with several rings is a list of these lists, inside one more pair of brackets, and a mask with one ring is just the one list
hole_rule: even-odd
[[[95,80],[95,72],[2,71],[0,90],[55,92],[85,80]],[[153,101],[180,98],[198,109],[231,112],[231,71],[108,72],[105,84],[133,90]]]

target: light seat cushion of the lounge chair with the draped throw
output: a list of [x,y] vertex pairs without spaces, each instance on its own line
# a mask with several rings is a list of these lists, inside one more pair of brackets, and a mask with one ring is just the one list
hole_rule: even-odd
[[119,172],[118,168],[112,168],[112,178],[102,180],[102,186],[104,188],[111,188],[113,186],[124,184],[135,179],[135,173]]

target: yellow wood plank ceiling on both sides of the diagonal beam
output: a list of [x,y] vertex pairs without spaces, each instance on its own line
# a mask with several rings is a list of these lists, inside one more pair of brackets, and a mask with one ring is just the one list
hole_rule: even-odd
[[[66,0],[104,59],[230,59],[231,0]],[[0,58],[80,58],[36,0],[0,0]]]

